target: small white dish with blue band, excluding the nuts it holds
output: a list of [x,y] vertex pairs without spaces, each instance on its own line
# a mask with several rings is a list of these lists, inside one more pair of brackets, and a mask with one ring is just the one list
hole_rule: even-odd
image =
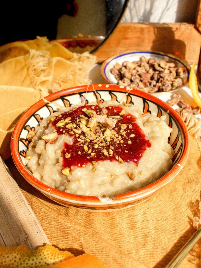
[[144,56],[147,59],[149,58],[154,58],[157,61],[164,60],[166,62],[174,62],[175,66],[177,68],[182,68],[183,69],[183,76],[182,78],[182,85],[180,87],[177,87],[176,89],[170,90],[170,91],[157,91],[152,94],[158,94],[158,93],[166,93],[166,92],[172,92],[177,90],[178,88],[183,87],[188,83],[189,80],[189,71],[190,71],[190,66],[188,62],[170,54],[164,54],[162,52],[156,52],[156,51],[126,51],[123,54],[120,55],[114,55],[113,57],[108,58],[106,61],[104,61],[101,65],[101,75],[103,79],[110,84],[117,84],[118,80],[116,77],[111,73],[111,69],[114,67],[116,63],[119,63],[122,65],[124,61],[138,61],[140,58]]

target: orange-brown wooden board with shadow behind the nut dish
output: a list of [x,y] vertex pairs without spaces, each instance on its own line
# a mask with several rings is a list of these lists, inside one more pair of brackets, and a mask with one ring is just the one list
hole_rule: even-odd
[[94,54],[101,63],[126,50],[170,53],[198,64],[201,35],[187,23],[120,23],[107,42]]

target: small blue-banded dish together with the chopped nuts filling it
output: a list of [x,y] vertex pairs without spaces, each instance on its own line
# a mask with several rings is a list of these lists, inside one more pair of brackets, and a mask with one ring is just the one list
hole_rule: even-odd
[[110,57],[101,66],[102,77],[107,83],[151,94],[183,87],[188,83],[189,70],[188,62],[157,51],[125,51]]

